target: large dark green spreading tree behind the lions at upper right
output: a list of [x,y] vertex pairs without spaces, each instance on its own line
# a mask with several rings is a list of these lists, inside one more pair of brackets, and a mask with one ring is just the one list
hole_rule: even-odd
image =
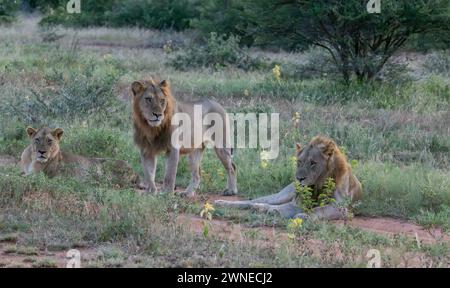
[[348,82],[372,79],[412,35],[450,29],[448,0],[246,0],[248,33],[257,42],[283,39],[326,49]]

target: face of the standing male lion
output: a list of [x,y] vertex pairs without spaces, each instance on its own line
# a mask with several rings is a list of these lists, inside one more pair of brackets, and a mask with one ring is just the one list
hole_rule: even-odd
[[167,81],[159,84],[134,82],[131,88],[140,112],[148,125],[151,127],[161,125],[168,104],[167,96],[164,94],[164,89],[168,89]]

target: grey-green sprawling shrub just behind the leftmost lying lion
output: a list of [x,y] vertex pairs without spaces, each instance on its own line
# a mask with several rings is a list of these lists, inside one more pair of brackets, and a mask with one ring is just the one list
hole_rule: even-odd
[[[55,55],[55,65],[74,66],[75,69],[46,71],[45,80],[53,87],[42,90],[18,87],[12,97],[5,99],[0,112],[19,117],[33,125],[46,125],[49,119],[84,118],[97,113],[118,110],[121,104],[114,93],[120,70],[111,62],[84,59],[74,63],[71,55]],[[25,91],[24,91],[25,90]],[[27,95],[23,97],[23,94]]]

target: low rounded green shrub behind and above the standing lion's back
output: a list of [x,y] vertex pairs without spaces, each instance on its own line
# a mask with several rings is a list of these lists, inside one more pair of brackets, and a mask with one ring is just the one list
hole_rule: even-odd
[[203,46],[189,46],[171,59],[170,64],[179,70],[208,67],[218,70],[224,67],[237,67],[244,70],[263,65],[259,58],[252,58],[247,49],[239,46],[240,38],[231,35],[211,33]]

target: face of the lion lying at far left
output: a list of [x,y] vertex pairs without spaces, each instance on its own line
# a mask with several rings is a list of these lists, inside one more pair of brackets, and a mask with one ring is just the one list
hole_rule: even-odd
[[34,160],[46,163],[59,153],[59,142],[63,134],[61,128],[52,130],[44,127],[36,130],[28,127],[27,134],[31,139],[32,157]]

